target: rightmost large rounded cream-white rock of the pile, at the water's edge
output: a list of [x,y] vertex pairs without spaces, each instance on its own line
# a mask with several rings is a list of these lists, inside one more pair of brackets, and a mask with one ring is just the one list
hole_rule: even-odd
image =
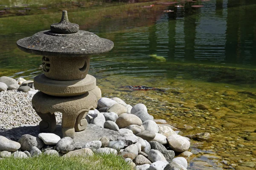
[[169,146],[175,152],[184,152],[189,149],[190,142],[183,136],[172,134],[167,137]]

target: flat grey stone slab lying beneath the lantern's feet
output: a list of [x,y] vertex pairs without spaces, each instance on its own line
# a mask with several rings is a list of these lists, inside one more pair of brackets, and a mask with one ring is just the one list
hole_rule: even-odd
[[[32,136],[38,136],[41,133],[39,131],[39,126],[23,126],[12,128],[7,131],[0,131],[0,136],[6,136],[13,141],[18,141],[20,136],[24,134],[29,134]],[[56,135],[62,137],[61,125],[56,125],[56,130],[53,132]],[[114,130],[101,128],[94,124],[88,124],[85,130],[75,133],[74,141],[76,142],[76,148],[81,148],[85,143],[91,141],[99,141],[103,136],[108,136],[111,141],[116,141],[121,135]]]

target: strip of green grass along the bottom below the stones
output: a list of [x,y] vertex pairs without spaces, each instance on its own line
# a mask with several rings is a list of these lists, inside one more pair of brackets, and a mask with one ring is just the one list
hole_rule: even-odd
[[131,170],[121,156],[98,154],[63,158],[41,154],[38,157],[17,159],[13,156],[0,160],[3,170]]

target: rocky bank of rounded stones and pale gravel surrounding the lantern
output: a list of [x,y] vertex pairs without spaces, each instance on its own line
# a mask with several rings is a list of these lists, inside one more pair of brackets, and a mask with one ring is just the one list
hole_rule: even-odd
[[[3,83],[7,88],[10,87],[3,81],[1,85]],[[20,87],[29,87],[28,84],[32,85],[32,82],[26,85],[21,83]],[[12,136],[12,129],[38,125],[41,121],[31,105],[31,99],[37,91],[32,87],[27,92],[17,90],[0,92],[1,159],[8,156],[27,158],[42,153],[64,157],[87,156],[96,152],[120,155],[136,170],[186,170],[188,166],[184,158],[192,155],[186,151],[190,146],[188,138],[180,136],[180,131],[164,120],[154,120],[142,103],[132,107],[117,97],[102,97],[98,101],[98,108],[90,111],[85,118],[87,129],[91,128],[96,133],[97,128],[108,130],[108,133],[96,136],[97,139],[89,137],[91,141],[78,142],[76,137],[61,138],[61,134],[58,136],[54,133],[39,133],[37,136],[23,134],[19,138],[17,135]],[[60,123],[61,113],[55,113],[55,116]],[[174,158],[175,153],[182,153],[184,157]]]

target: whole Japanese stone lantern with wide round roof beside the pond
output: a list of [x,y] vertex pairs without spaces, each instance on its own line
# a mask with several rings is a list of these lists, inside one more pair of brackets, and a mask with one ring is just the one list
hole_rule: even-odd
[[90,54],[110,51],[113,42],[70,23],[67,11],[62,12],[60,23],[51,30],[41,31],[17,41],[20,50],[42,55],[44,74],[34,79],[39,90],[33,96],[32,106],[41,117],[41,132],[53,132],[55,112],[62,113],[62,134],[74,138],[75,131],[86,129],[85,116],[97,107],[101,91],[96,78],[87,74]]

